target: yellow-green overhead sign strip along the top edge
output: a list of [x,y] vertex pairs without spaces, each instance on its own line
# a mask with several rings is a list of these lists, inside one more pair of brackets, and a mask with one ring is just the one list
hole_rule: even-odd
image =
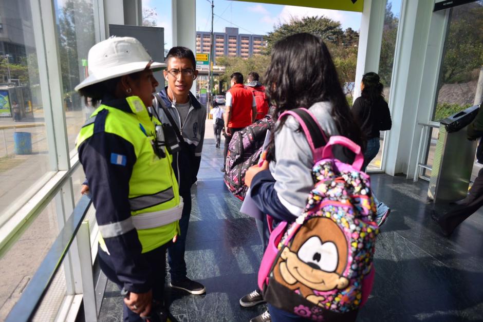
[[364,0],[236,0],[248,2],[262,2],[274,5],[303,6],[311,8],[322,8],[332,10],[345,10],[362,12]]

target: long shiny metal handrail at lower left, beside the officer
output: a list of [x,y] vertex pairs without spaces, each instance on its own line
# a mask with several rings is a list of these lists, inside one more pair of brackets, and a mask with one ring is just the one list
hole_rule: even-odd
[[69,251],[92,200],[84,195],[64,224],[49,252],[35,272],[22,296],[7,316],[6,322],[30,321],[47,293],[55,273]]

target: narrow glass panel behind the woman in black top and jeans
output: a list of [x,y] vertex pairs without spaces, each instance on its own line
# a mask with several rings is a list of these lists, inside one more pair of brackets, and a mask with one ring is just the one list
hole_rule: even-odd
[[[396,36],[399,26],[399,17],[401,12],[401,0],[387,0],[386,10],[384,14],[384,27],[382,30],[381,56],[379,59],[379,77],[384,85],[383,94],[386,101],[389,102],[389,94],[391,93],[391,78],[393,76],[394,52],[396,50]],[[385,131],[381,131],[379,138],[380,148],[377,156],[369,163],[367,169],[380,170],[382,168],[382,158],[384,151]]]

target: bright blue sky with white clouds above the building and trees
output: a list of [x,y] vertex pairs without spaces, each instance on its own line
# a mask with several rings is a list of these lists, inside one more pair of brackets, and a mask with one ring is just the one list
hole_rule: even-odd
[[[392,2],[392,11],[399,17],[401,0]],[[240,33],[267,34],[273,26],[290,20],[290,17],[325,15],[339,21],[343,29],[359,30],[361,13],[316,9],[296,6],[270,5],[253,2],[214,0],[213,30],[224,32],[225,27],[238,27]],[[157,25],[164,28],[166,48],[172,47],[171,0],[142,0],[143,8],[156,8]],[[211,30],[211,2],[196,0],[196,31]]]

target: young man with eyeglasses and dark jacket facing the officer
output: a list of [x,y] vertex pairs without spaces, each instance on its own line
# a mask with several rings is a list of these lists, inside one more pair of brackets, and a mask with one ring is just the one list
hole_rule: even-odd
[[186,47],[173,47],[166,56],[166,65],[163,73],[168,86],[156,95],[153,108],[160,121],[177,132],[180,149],[173,153],[172,165],[184,203],[179,220],[180,234],[168,248],[170,286],[191,294],[203,294],[205,287],[187,277],[184,250],[191,214],[191,186],[197,180],[205,136],[206,106],[190,92],[198,76],[193,52]]

